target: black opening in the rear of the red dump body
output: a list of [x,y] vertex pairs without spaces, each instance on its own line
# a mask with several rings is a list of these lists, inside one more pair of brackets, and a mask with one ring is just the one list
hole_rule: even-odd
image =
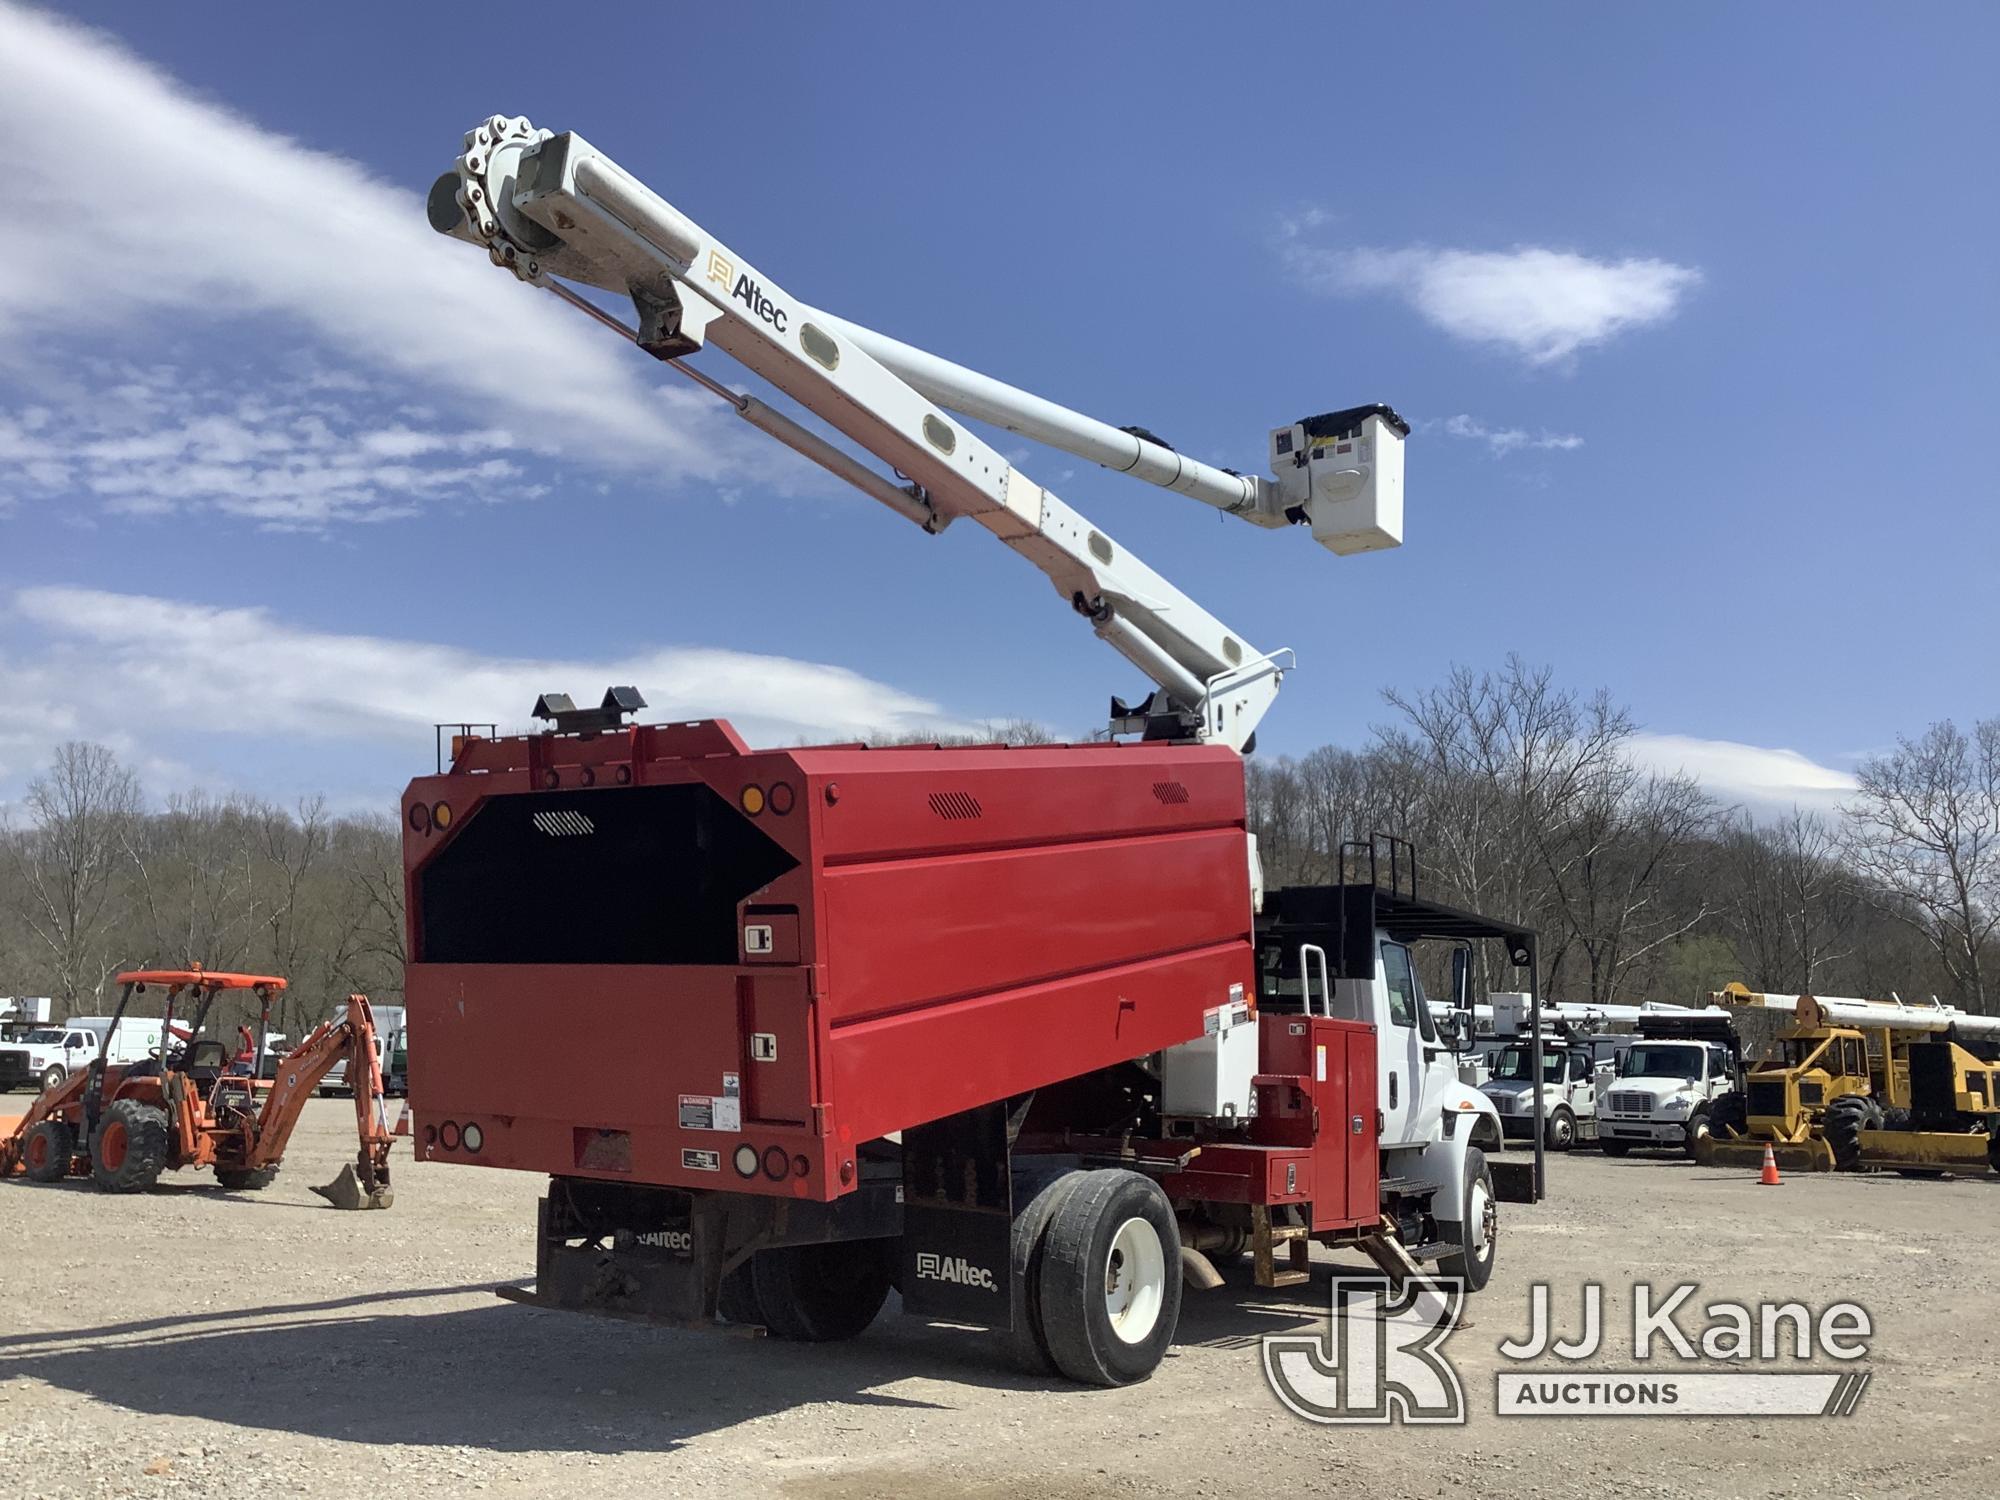
[[420,964],[736,964],[798,862],[698,782],[486,798],[418,870]]

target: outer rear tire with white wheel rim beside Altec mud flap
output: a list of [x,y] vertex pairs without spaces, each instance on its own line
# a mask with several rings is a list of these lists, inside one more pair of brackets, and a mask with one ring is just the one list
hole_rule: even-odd
[[1180,1228],[1160,1184],[1106,1168],[1076,1174],[1042,1238],[1042,1338],[1086,1386],[1130,1386],[1160,1368],[1180,1322]]

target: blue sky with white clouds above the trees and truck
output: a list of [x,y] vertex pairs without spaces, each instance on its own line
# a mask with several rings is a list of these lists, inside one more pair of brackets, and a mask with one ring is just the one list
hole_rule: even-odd
[[1506,652],[1766,804],[2000,710],[1986,6],[70,14],[0,0],[0,802],[88,736],[156,794],[386,806],[432,720],[612,678],[754,738],[1084,734],[1142,688],[976,528],[432,236],[496,110],[1210,462],[1412,418],[1406,544],[1362,558],[1002,444],[1298,652],[1268,750]]

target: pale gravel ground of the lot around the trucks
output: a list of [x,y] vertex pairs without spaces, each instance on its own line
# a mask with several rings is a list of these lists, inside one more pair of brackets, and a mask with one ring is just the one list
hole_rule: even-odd
[[[0,1100],[0,1112],[20,1100]],[[1324,1428],[1278,1406],[1258,1336],[1324,1326],[1310,1288],[1248,1268],[1190,1292],[1180,1344],[1128,1390],[1010,1372],[996,1340],[888,1314],[844,1346],[680,1334],[500,1302],[532,1274],[536,1178],[398,1162],[386,1214],[306,1192],[350,1150],[350,1106],[308,1106],[280,1180],[224,1196],[180,1174],[144,1198],[0,1184],[0,1496],[754,1496],[926,1500],[1232,1496],[1992,1494],[2000,1178],[1750,1174],[1664,1156],[1554,1162],[1506,1208],[1500,1270],[1448,1350],[1470,1422]],[[1362,1270],[1362,1266],[1354,1266]],[[1776,1420],[1494,1416],[1496,1344],[1552,1284],[1606,1284],[1606,1368],[1628,1292],[1858,1300],[1876,1320],[1860,1410]],[[1700,1326],[1698,1314],[1684,1318]]]

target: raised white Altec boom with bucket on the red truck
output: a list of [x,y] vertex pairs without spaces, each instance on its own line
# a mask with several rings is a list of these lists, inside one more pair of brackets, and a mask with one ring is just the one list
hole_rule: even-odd
[[[1408,426],[1388,406],[1276,428],[1268,480],[1182,458],[1150,434],[1082,416],[800,302],[574,132],[558,136],[524,118],[492,116],[466,134],[454,170],[432,188],[430,222],[626,334],[728,400],[744,420],[926,532],[970,516],[1020,552],[1100,638],[1158,684],[1138,706],[1112,700],[1114,732],[1192,736],[1246,750],[1290,652],[1248,646],[946,412],[1004,426],[1258,526],[1306,524],[1314,540],[1340,554],[1402,542]],[[638,328],[626,328],[564,280],[630,296]],[[906,482],[890,482],[766,402],[682,362],[708,344]]]

